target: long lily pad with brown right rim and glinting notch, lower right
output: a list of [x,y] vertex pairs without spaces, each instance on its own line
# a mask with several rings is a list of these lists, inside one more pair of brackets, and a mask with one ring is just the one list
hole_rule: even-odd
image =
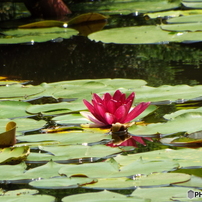
[[[176,174],[176,173],[175,173]],[[190,180],[187,174],[173,173],[154,173],[148,176],[137,176],[132,179],[127,178],[103,178],[98,179],[95,184],[85,185],[84,187],[93,189],[135,189],[136,187],[164,186],[173,183],[180,183]]]

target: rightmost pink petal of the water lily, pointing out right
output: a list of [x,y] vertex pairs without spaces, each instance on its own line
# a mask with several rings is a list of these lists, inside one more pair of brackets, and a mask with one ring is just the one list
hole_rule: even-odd
[[127,123],[139,116],[149,106],[149,104],[150,102],[141,102],[140,104],[138,104],[130,111],[124,122]]

